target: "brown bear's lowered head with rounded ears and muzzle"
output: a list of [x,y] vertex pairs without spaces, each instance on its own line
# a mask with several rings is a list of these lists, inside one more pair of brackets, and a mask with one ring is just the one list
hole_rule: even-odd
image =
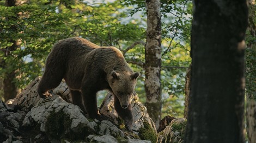
[[122,108],[127,108],[131,102],[131,97],[135,90],[139,73],[117,73],[114,70],[111,72],[109,86],[112,92],[119,99]]

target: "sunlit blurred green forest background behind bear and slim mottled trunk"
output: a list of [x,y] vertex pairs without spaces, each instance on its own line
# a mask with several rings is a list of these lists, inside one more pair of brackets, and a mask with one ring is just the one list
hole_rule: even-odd
[[[8,2],[8,1],[6,1]],[[0,97],[13,99],[42,75],[54,43],[80,36],[100,46],[123,51],[134,71],[141,73],[136,92],[146,101],[144,1],[0,1]],[[11,2],[11,1],[9,1]],[[185,75],[190,66],[192,2],[161,1],[162,116],[184,113]],[[98,95],[98,103],[106,92]]]

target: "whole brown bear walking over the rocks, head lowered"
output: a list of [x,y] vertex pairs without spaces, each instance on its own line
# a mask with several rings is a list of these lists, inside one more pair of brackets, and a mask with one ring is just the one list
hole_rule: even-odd
[[108,89],[114,95],[114,107],[131,131],[131,96],[139,73],[133,73],[123,54],[115,47],[100,47],[80,37],[57,42],[48,55],[38,94],[46,98],[62,79],[68,85],[72,102],[90,118],[105,120],[96,104],[96,93]]

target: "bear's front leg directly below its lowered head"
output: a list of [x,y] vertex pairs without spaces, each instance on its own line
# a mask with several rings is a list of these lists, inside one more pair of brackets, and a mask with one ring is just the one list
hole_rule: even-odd
[[117,96],[114,95],[114,107],[115,111],[117,111],[118,115],[121,117],[121,119],[124,120],[124,125],[127,131],[132,131],[132,122],[133,122],[133,115],[132,115],[132,107],[131,103],[127,108],[122,108],[120,105],[120,101],[117,98]]

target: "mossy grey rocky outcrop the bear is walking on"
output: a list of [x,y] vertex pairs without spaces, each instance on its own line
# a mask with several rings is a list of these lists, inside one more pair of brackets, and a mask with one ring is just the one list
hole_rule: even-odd
[[150,142],[142,137],[143,132],[150,132],[156,138],[154,122],[137,94],[132,100],[135,122],[131,133],[115,112],[110,93],[102,102],[100,113],[111,120],[98,121],[87,118],[71,103],[65,82],[51,91],[51,97],[39,98],[36,93],[39,80],[36,78],[17,98],[7,101],[8,106],[0,102],[0,142]]

